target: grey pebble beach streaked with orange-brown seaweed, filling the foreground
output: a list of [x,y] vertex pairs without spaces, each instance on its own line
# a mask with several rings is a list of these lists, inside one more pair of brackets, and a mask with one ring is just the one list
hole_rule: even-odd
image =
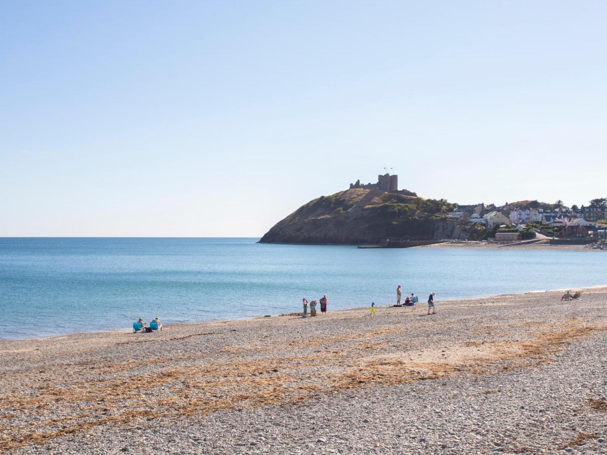
[[607,453],[607,287],[562,294],[1,342],[0,447]]

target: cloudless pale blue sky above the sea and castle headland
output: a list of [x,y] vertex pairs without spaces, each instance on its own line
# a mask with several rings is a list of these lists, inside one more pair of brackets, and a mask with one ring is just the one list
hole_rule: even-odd
[[0,3],[0,235],[257,236],[375,181],[607,197],[607,2]]

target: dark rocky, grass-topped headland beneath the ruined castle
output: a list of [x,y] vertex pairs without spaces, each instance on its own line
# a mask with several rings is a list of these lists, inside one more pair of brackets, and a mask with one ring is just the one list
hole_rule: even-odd
[[260,243],[364,244],[385,238],[469,238],[462,226],[436,216],[450,209],[444,200],[353,188],[299,207],[276,223]]

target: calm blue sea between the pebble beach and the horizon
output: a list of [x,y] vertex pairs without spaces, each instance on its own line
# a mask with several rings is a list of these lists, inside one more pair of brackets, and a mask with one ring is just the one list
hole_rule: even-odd
[[0,339],[607,284],[607,254],[357,249],[257,238],[0,238]]

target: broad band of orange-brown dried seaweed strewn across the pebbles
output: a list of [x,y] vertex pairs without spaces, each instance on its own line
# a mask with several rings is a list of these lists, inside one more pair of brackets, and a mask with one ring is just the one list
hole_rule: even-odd
[[[518,328],[512,326],[515,327]],[[114,368],[125,376],[64,380],[0,397],[0,406],[7,410],[2,420],[8,423],[0,428],[0,448],[15,450],[101,425],[127,425],[134,420],[197,416],[251,406],[294,405],[318,393],[538,366],[549,362],[551,354],[564,345],[606,329],[604,325],[587,325],[577,320],[526,328],[530,330],[527,339],[466,340],[446,346],[447,349],[427,349],[421,353],[378,354],[378,350],[387,349],[394,343],[394,337],[404,331],[393,327],[309,340],[309,346],[323,343],[333,349],[306,358],[268,353],[271,349],[279,354],[282,346],[248,346],[248,349],[228,346],[219,352],[232,359],[217,362],[195,355],[163,359],[159,365],[169,363],[168,366],[147,374],[131,370],[132,363],[123,363]],[[239,360],[234,356],[250,349],[265,351],[265,357]],[[174,365],[192,361],[197,363]],[[322,386],[302,385],[302,379],[312,375]],[[153,408],[144,406],[146,394],[151,393],[157,396]],[[73,403],[84,409],[73,409],[56,417],[57,406],[69,409]],[[13,421],[16,413],[28,413],[35,420],[19,425]]]

